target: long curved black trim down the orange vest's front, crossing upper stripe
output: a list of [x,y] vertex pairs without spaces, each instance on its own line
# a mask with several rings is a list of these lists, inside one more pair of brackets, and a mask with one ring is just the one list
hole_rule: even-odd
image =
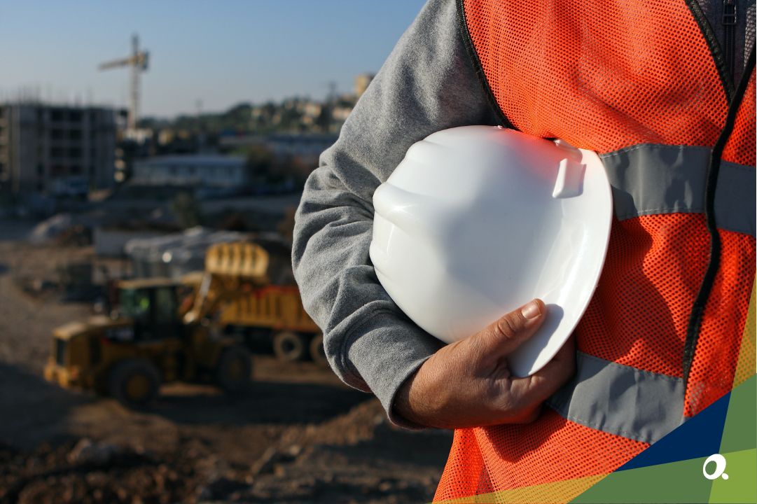
[[689,384],[689,372],[691,371],[691,365],[694,360],[696,342],[699,340],[699,331],[702,328],[702,316],[704,316],[705,306],[709,299],[709,294],[712,291],[712,284],[715,282],[715,275],[718,274],[718,269],[720,268],[721,242],[720,234],[718,233],[715,223],[715,189],[718,185],[721,157],[725,145],[728,142],[728,138],[731,137],[731,133],[734,131],[736,114],[741,107],[741,102],[746,94],[746,87],[749,84],[749,78],[752,76],[754,68],[755,45],[752,45],[752,49],[749,51],[749,59],[746,61],[744,73],[741,75],[739,87],[736,89],[734,98],[728,105],[728,114],[725,118],[725,124],[718,136],[718,140],[712,147],[709,166],[707,166],[705,219],[707,223],[707,231],[710,235],[710,254],[704,278],[702,278],[702,283],[699,285],[699,293],[696,294],[696,299],[691,307],[689,325],[686,331],[686,342],[684,343],[684,382],[686,383],[686,387],[688,387]]

